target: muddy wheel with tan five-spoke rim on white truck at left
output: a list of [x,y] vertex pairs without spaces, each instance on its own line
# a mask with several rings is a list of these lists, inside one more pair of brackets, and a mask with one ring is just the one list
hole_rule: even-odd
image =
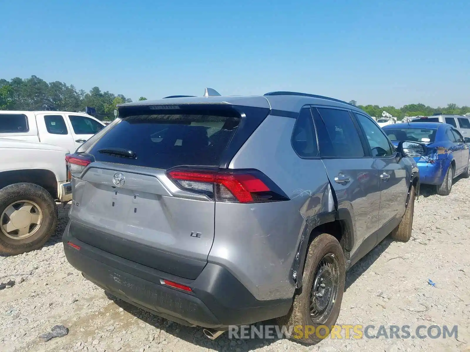
[[38,249],[57,225],[57,206],[37,184],[10,184],[0,190],[0,253]]

